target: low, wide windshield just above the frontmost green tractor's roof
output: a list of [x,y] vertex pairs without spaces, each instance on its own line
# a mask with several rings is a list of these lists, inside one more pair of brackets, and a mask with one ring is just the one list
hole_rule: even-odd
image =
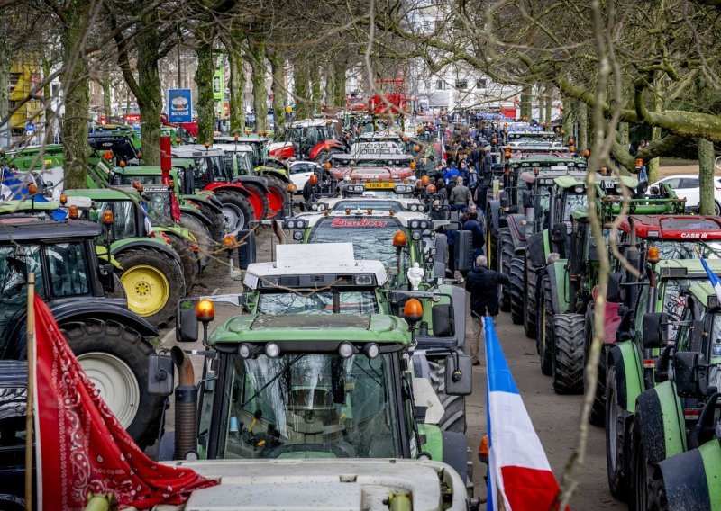
[[376,293],[369,291],[283,291],[263,292],[258,314],[333,314],[333,294],[337,294],[343,314],[377,314]]

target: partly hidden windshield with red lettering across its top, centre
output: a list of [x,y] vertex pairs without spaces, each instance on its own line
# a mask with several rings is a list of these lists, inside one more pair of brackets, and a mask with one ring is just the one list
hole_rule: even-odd
[[[376,259],[393,268],[397,266],[393,237],[398,230],[403,228],[393,218],[327,217],[318,220],[308,243],[352,243],[356,259]],[[402,253],[406,255],[406,250]]]

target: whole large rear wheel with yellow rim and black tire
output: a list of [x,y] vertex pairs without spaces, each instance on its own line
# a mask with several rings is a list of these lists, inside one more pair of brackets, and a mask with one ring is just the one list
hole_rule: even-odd
[[128,309],[163,327],[175,317],[176,305],[185,295],[185,279],[180,264],[169,255],[152,248],[129,248],[115,255],[123,267],[123,282]]

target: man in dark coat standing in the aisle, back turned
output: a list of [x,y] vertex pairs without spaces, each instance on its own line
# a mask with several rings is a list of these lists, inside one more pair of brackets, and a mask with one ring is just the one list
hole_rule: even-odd
[[476,257],[476,265],[466,276],[466,291],[470,292],[470,356],[479,365],[480,337],[483,317],[496,319],[498,315],[498,286],[508,285],[508,276],[488,268],[485,255]]

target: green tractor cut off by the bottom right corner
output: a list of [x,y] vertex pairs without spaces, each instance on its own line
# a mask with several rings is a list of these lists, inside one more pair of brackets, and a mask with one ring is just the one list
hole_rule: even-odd
[[[662,355],[655,385],[635,399],[632,509],[721,507],[721,305],[709,282],[684,295],[680,321],[664,312],[643,317],[643,347]],[[670,325],[677,327],[674,340]]]

